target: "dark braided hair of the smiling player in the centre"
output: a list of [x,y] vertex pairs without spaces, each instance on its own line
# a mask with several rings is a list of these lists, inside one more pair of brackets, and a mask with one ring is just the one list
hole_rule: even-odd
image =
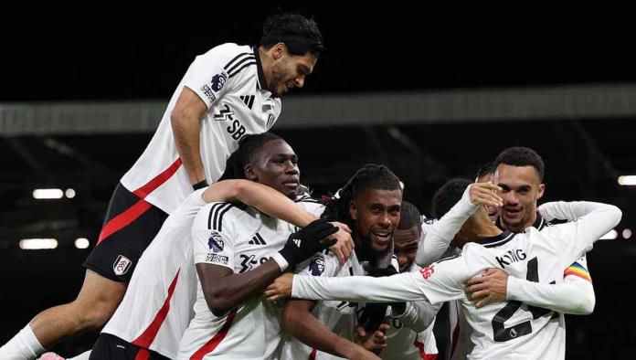
[[349,204],[356,194],[366,189],[402,191],[398,176],[393,174],[387,166],[366,164],[356,171],[355,175],[340,189],[339,197],[326,204],[322,217],[340,221],[354,228],[355,221],[349,214]]

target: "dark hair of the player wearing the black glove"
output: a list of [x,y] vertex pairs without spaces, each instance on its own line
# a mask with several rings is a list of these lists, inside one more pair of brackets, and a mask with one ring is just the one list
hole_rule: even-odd
[[[238,141],[238,149],[230,154],[226,161],[226,169],[218,181],[228,179],[246,179],[245,166],[249,164],[265,143],[283,140],[281,136],[272,132],[245,135]],[[283,140],[284,141],[284,140]]]

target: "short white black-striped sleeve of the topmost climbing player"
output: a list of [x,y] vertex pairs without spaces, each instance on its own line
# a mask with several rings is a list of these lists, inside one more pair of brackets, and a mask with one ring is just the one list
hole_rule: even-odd
[[206,103],[208,109],[231,88],[233,79],[229,78],[228,65],[247,60],[250,56],[253,58],[253,53],[251,55],[249,52],[241,53],[238,47],[235,51],[230,49],[233,48],[226,44],[196,57],[185,74],[184,85],[195,91],[196,95]]

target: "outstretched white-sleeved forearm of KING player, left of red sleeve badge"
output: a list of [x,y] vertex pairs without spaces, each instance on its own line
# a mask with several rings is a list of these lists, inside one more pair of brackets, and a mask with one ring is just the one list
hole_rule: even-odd
[[[322,278],[294,275],[292,297],[346,302],[412,302],[426,300],[412,276],[403,273],[384,278],[348,276]],[[419,273],[415,273],[419,276]]]

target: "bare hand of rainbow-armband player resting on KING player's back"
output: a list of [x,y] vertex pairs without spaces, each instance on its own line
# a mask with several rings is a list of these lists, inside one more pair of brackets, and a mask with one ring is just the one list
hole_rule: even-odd
[[488,269],[466,281],[466,297],[477,309],[492,303],[505,302],[508,274],[504,270]]

